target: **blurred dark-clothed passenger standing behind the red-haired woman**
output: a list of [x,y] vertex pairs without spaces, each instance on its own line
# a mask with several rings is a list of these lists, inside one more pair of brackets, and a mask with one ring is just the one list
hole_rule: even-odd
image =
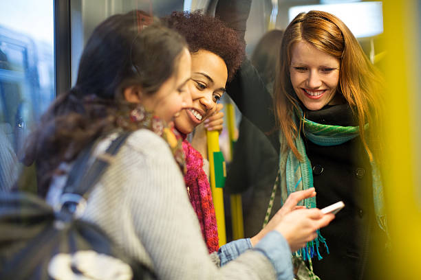
[[[270,30],[264,34],[250,59],[270,93],[272,93],[282,35],[282,30]],[[228,194],[243,194],[245,236],[253,236],[262,228],[277,176],[278,161],[278,153],[268,137],[246,117],[241,117],[225,189]],[[278,191],[274,199],[274,210],[280,208],[281,194]]]

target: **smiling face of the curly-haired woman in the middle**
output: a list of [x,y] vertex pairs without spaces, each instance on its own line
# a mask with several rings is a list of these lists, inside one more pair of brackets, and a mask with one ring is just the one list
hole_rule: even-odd
[[222,58],[199,49],[191,55],[191,81],[188,82],[193,104],[175,118],[175,128],[188,134],[216,110],[225,92],[228,70]]

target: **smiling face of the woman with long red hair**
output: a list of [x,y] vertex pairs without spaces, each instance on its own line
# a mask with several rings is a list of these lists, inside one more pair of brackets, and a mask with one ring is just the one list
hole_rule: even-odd
[[292,46],[291,54],[291,84],[305,108],[320,110],[342,102],[336,94],[341,67],[337,58],[303,41]]

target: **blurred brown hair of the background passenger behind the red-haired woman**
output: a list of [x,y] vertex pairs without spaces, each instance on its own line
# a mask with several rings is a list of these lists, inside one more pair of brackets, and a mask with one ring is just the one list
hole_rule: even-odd
[[283,30],[270,30],[260,38],[253,51],[251,62],[257,69],[263,82],[274,81],[276,65],[281,51]]

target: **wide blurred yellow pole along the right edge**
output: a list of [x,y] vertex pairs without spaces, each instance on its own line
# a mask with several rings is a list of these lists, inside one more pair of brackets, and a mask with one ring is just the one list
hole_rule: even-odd
[[388,279],[420,279],[420,2],[385,0],[384,185],[392,259]]

